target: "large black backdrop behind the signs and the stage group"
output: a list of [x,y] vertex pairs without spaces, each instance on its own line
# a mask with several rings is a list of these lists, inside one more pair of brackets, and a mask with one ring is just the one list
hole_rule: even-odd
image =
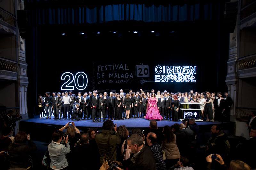
[[[186,24],[181,26],[154,28],[151,33],[150,27],[141,28],[139,33],[134,34],[129,30],[116,30],[117,34],[109,32],[111,29],[102,30],[100,35],[95,31],[85,31],[80,34],[81,28],[60,29],[58,26],[41,26],[32,29],[31,35],[36,35],[36,43],[27,45],[27,56],[36,53],[35,58],[28,60],[28,105],[32,108],[39,95],[45,92],[63,92],[61,85],[65,82],[60,77],[64,72],[75,74],[83,71],[88,76],[88,85],[84,90],[88,92],[97,89],[99,92],[110,92],[124,89],[137,91],[140,88],[149,91],[167,90],[168,92],[212,92],[226,91],[226,62],[228,59],[228,33],[216,23]],[[84,29],[86,30],[86,29]],[[143,31],[141,31],[143,30]],[[174,31],[174,33],[170,33]],[[65,36],[61,33],[65,32]],[[33,42],[33,41],[32,41]],[[35,51],[33,51],[35,50]],[[93,62],[95,62],[93,64]],[[149,65],[149,78],[154,80],[156,65],[180,65],[197,66],[196,83],[175,82],[145,82],[135,74],[136,65]],[[108,83],[112,78],[106,78],[105,84],[99,84],[97,79],[98,65],[122,64],[128,67],[128,71],[111,70],[110,73],[132,73],[133,78],[129,83]],[[95,69],[93,71],[93,68]],[[103,73],[104,71],[101,71]],[[108,71],[105,75],[108,75]],[[93,77],[93,75],[95,75]],[[119,75],[120,76],[120,75]],[[34,107],[35,108],[35,107]]]

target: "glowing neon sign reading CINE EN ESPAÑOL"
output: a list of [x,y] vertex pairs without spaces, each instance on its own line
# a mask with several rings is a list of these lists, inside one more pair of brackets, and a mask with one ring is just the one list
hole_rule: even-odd
[[196,66],[156,66],[155,82],[196,82]]

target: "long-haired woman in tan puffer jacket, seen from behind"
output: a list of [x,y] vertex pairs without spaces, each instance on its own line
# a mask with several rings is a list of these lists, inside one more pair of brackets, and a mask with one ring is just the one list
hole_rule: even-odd
[[165,152],[165,164],[169,169],[172,165],[176,164],[180,158],[180,151],[176,144],[176,135],[172,132],[170,126],[164,126],[163,129],[164,140],[162,143],[162,150]]

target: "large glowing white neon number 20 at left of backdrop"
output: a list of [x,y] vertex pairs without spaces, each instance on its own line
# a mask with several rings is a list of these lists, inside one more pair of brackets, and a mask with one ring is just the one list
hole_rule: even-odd
[[[83,80],[82,85],[80,85],[78,81],[80,77]],[[66,82],[63,85],[61,85],[61,90],[74,90],[75,87],[77,90],[84,90],[87,87],[87,83],[88,83],[87,75],[84,72],[76,73],[75,78],[72,73],[65,72],[61,75],[61,80],[66,80]],[[70,85],[71,83],[73,83],[73,81],[74,81],[75,87],[73,85]]]

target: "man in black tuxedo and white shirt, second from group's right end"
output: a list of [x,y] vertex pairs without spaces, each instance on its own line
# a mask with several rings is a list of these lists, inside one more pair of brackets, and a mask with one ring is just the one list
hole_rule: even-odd
[[218,98],[213,101],[215,109],[215,121],[223,121],[223,113],[225,111],[225,100],[222,98],[222,94],[218,93]]

